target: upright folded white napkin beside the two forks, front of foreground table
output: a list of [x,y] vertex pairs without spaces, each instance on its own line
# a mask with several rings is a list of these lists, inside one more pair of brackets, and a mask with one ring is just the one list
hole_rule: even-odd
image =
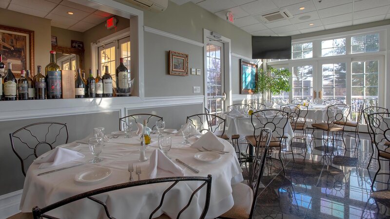
[[167,158],[164,153],[156,149],[152,152],[149,158],[149,178],[154,179],[157,177],[157,169],[165,170],[164,176],[184,176],[184,171],[180,166],[176,165],[173,161]]

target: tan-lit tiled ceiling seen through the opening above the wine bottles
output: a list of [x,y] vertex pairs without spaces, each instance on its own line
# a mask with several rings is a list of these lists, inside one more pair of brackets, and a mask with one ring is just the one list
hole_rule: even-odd
[[[0,0],[0,7],[51,19],[51,25],[84,32],[113,15],[68,0]],[[69,15],[67,12],[73,12]]]

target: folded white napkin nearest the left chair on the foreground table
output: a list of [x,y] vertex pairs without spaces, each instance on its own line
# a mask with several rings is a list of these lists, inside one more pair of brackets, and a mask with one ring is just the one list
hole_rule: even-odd
[[59,164],[64,164],[69,161],[74,161],[80,158],[85,157],[84,154],[79,153],[74,150],[69,150],[62,147],[56,147],[44,158],[35,159],[34,164],[40,164],[39,169],[57,166]]

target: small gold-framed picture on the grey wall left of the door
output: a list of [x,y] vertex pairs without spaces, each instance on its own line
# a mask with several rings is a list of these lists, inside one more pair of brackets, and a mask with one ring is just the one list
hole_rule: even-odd
[[188,54],[169,51],[169,74],[188,76]]

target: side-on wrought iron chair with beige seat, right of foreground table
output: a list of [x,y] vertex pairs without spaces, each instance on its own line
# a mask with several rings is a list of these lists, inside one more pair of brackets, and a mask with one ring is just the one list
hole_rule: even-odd
[[[252,174],[249,186],[244,183],[237,183],[232,186],[234,206],[225,214],[219,216],[221,219],[252,219],[256,206],[258,188],[261,176],[264,173],[265,161],[272,138],[270,128],[257,130],[255,156],[252,167]],[[263,150],[264,148],[264,150]]]

